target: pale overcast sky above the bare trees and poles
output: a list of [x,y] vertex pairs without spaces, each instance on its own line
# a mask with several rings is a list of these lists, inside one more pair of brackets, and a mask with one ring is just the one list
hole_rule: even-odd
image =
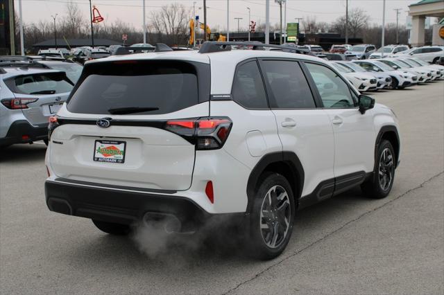
[[[58,13],[58,17],[65,14],[66,2],[69,0],[22,0],[24,22],[39,21],[40,19],[51,20],[51,15]],[[88,0],[72,0],[78,3],[84,11],[85,18],[89,18]],[[395,8],[401,8],[400,24],[405,23],[408,6],[419,0],[386,0],[386,22],[396,21]],[[147,17],[149,12],[157,10],[169,3],[182,3],[192,12],[193,3],[196,2],[196,15],[203,21],[203,0],[146,0]],[[142,0],[93,0],[99,8],[105,21],[121,19],[142,27]],[[279,6],[274,0],[270,0],[270,21],[272,24],[279,22]],[[371,17],[371,22],[382,24],[382,0],[349,0],[349,9],[361,8]],[[15,0],[18,10],[18,0]],[[227,0],[207,0],[207,20],[211,28],[219,26],[221,30],[226,28]],[[230,30],[237,29],[237,20],[234,17],[242,17],[240,26],[248,26],[248,10],[251,9],[251,19],[264,22],[265,0],[230,0]],[[284,12],[282,12],[284,13]],[[316,16],[317,21],[334,21],[337,17],[345,14],[345,0],[287,0],[287,22],[294,21],[295,17]]]

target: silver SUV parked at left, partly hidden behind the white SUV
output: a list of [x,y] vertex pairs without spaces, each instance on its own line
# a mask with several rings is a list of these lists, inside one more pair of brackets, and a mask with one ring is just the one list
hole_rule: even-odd
[[49,116],[73,87],[62,71],[0,67],[0,147],[41,140],[47,144]]

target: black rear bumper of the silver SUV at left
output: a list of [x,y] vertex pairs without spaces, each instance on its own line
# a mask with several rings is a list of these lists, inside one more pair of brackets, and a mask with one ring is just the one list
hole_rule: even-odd
[[27,120],[17,120],[10,125],[6,136],[0,138],[0,146],[32,143],[46,138],[48,138],[48,123],[33,126]]

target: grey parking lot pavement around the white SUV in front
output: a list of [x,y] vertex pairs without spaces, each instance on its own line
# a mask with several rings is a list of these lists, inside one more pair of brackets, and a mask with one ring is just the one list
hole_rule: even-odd
[[400,118],[391,195],[370,200],[357,188],[298,212],[289,247],[268,262],[245,258],[230,236],[212,247],[185,237],[147,256],[130,238],[48,211],[44,145],[8,147],[1,293],[443,294],[444,81],[370,96]]

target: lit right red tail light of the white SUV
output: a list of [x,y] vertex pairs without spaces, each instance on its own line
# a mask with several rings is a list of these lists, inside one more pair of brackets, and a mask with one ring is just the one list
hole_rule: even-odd
[[165,129],[180,134],[191,143],[196,150],[216,150],[227,141],[232,127],[230,118],[200,118],[185,120],[169,120]]

